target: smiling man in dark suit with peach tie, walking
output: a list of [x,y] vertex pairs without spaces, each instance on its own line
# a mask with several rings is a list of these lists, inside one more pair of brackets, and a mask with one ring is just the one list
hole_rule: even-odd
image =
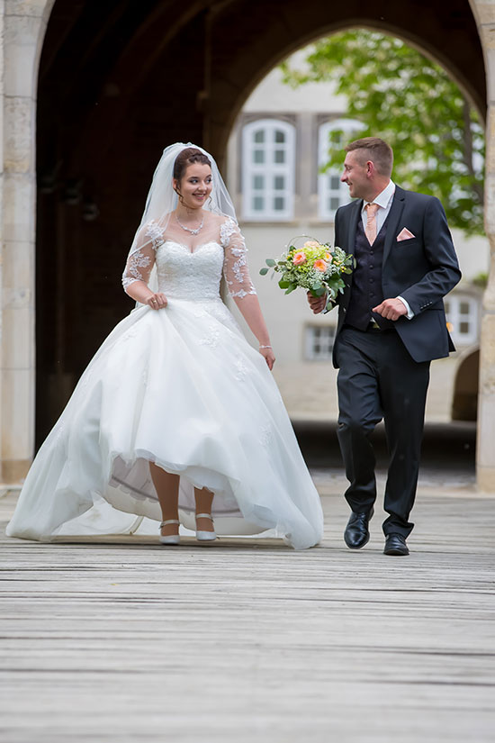
[[[383,419],[390,455],[383,551],[408,555],[429,363],[455,350],[442,300],[461,272],[442,204],[392,182],[392,148],[366,137],[346,152],[340,179],[356,201],[338,209],[335,244],[354,254],[356,267],[337,300],[333,353],[338,440],[352,510],[344,539],[359,549],[370,536],[376,499],[371,435]],[[320,313],[325,298],[308,298],[313,313]]]

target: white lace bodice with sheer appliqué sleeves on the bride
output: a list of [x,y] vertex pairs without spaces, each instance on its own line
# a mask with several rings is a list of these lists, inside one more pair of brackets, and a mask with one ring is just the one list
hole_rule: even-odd
[[242,299],[256,294],[247,268],[246,243],[233,220],[222,222],[215,239],[198,244],[193,251],[167,238],[157,222],[148,222],[141,232],[139,249],[128,259],[122,276],[124,289],[134,281],[148,284],[156,266],[158,291],[170,298],[218,299],[222,270],[231,296]]

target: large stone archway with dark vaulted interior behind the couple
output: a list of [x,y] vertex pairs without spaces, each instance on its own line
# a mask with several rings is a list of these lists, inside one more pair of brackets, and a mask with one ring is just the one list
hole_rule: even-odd
[[[186,7],[176,0],[146,0],[139,6],[118,0],[104,7],[90,0],[7,5],[3,193],[4,233],[12,245],[6,242],[4,249],[4,479],[22,476],[32,453],[34,101],[47,19],[38,88],[36,288],[38,369],[43,394],[53,392],[44,400],[40,387],[40,438],[88,356],[127,311],[115,269],[163,145],[197,140],[221,163],[240,106],[285,54],[351,24],[389,30],[441,61],[484,113],[482,44],[493,64],[492,5],[473,0],[473,12],[467,0],[451,0],[447,8],[440,0],[385,5],[380,15],[365,10],[360,0],[331,8],[319,0],[304,5],[198,0]],[[495,181],[495,165],[492,169],[491,176],[489,162],[489,204],[495,201],[490,180]],[[495,225],[489,227],[495,234]],[[22,251],[23,259],[14,258]],[[490,310],[495,300],[487,302],[487,316],[495,318]],[[483,322],[483,344],[489,349],[495,327]],[[14,333],[23,344],[9,367]],[[489,358],[488,366],[495,368],[495,359]]]

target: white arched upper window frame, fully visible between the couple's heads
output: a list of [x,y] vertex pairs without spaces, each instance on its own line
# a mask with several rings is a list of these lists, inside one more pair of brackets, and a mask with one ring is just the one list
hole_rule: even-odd
[[[257,147],[257,131],[265,132],[265,142]],[[275,131],[284,132],[284,147],[275,143]],[[265,162],[254,162],[254,151],[264,150]],[[284,149],[284,163],[275,162],[275,150]],[[264,187],[255,189],[255,177],[263,177]],[[275,177],[284,177],[284,188],[275,189]],[[250,222],[286,222],[293,219],[295,177],[295,128],[279,119],[257,119],[242,130],[242,217]],[[264,199],[264,208],[254,208],[254,198]],[[284,209],[275,209],[275,197],[284,198]]]

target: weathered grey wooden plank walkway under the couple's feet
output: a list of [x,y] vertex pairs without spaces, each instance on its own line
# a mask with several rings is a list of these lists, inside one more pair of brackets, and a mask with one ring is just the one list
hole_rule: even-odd
[[[495,739],[495,498],[420,489],[409,558],[320,548],[4,537],[4,743],[488,743]],[[0,520],[14,494],[0,499]]]

